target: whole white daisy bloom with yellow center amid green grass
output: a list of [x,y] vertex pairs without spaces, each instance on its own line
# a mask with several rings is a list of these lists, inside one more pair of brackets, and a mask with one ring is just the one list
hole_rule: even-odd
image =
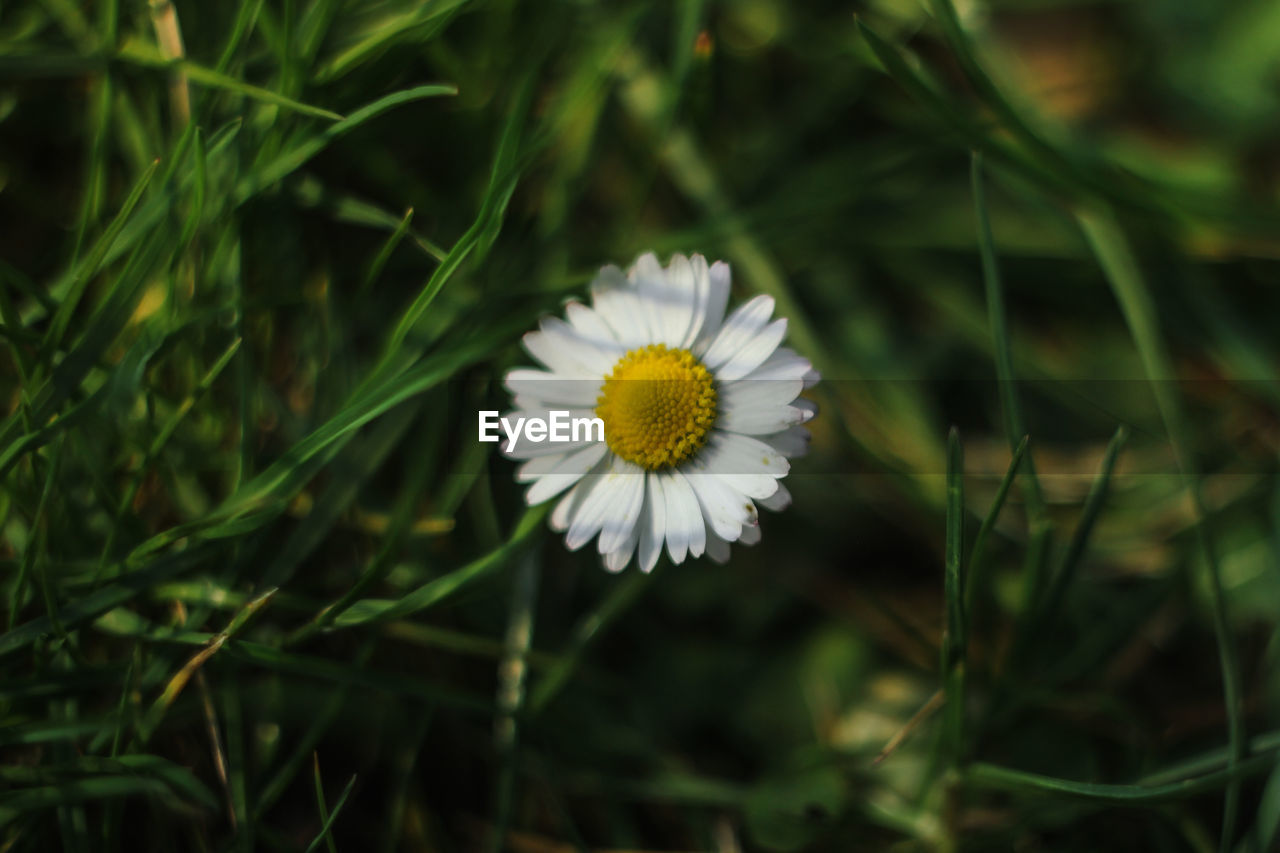
[[[760,540],[756,505],[782,510],[778,480],[787,457],[809,442],[817,412],[800,392],[818,382],[808,359],[778,346],[787,321],[773,298],[756,296],[727,318],[730,270],[701,255],[653,254],[630,270],[605,266],[591,282],[591,306],[570,302],[566,320],[547,316],[525,336],[544,369],[507,374],[516,418],[567,411],[599,418],[604,441],[503,443],[525,460],[530,505],[561,497],[550,525],[577,549],[599,537],[611,571],[637,553],[653,570],[663,542],[673,564],[704,552],[718,562],[728,543]],[[586,434],[584,434],[586,433]]]

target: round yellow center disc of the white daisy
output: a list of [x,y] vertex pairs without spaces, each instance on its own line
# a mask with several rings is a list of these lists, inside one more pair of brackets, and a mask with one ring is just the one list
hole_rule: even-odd
[[671,467],[707,443],[716,386],[692,352],[653,343],[618,359],[595,414],[614,453],[650,471]]

